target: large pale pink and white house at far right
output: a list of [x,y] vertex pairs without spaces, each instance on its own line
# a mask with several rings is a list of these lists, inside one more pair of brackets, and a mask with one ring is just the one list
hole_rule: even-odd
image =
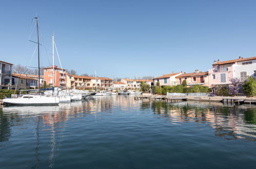
[[230,84],[231,78],[238,78],[241,81],[246,80],[247,76],[256,79],[256,57],[214,61],[212,69],[209,70],[210,87],[214,85]]

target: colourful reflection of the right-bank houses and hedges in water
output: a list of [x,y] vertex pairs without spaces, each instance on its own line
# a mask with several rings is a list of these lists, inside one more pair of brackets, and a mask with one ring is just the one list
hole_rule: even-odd
[[256,141],[255,105],[223,105],[219,102],[143,102],[142,109],[151,107],[156,115],[171,123],[206,123],[215,130],[215,135],[225,139]]

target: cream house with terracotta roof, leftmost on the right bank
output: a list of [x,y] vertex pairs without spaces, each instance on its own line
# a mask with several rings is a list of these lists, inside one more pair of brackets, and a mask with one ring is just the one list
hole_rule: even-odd
[[175,77],[181,75],[182,72],[171,74],[164,74],[163,76],[155,77],[153,78],[154,86],[156,86],[156,83],[159,82],[160,86],[176,86],[177,82]]

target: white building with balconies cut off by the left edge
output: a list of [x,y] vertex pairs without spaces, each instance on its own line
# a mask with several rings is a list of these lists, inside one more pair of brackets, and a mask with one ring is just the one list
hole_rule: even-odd
[[7,89],[11,83],[12,66],[13,64],[0,60],[0,89]]

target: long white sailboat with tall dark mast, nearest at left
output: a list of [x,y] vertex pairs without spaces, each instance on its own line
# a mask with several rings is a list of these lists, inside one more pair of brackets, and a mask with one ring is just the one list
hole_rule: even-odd
[[44,104],[58,104],[60,98],[58,97],[47,97],[42,96],[40,93],[40,52],[39,52],[39,30],[38,30],[38,17],[36,19],[37,29],[37,55],[38,55],[38,94],[37,95],[23,95],[18,98],[5,98],[3,99],[4,104],[17,104],[17,105],[44,105]]

